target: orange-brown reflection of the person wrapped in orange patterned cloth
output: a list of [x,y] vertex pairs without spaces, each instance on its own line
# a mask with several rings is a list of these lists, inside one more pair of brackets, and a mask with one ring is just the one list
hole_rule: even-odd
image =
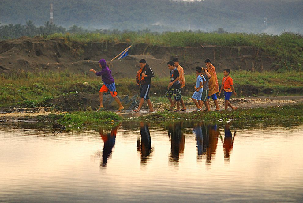
[[[206,130],[204,128],[204,130]],[[207,145],[206,149],[206,164],[211,164],[212,155],[216,154],[216,149],[218,145],[218,138],[219,138],[219,129],[217,128],[217,124],[211,124],[207,126],[208,133],[204,133],[204,130],[202,130],[204,136],[205,144]]]

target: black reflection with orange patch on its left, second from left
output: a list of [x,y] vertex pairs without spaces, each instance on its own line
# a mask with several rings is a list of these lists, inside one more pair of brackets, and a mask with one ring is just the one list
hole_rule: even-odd
[[148,157],[152,154],[151,135],[148,129],[148,123],[140,122],[140,139],[137,139],[137,150],[141,154],[141,164],[146,164]]

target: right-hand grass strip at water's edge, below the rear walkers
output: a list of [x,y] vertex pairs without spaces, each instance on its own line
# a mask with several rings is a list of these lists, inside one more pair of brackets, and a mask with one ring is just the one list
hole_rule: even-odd
[[303,121],[303,104],[284,107],[267,107],[253,109],[238,109],[237,111],[211,111],[174,113],[169,111],[156,112],[147,116],[139,117],[140,120],[168,121],[177,119],[188,119],[195,121],[215,122],[218,119],[233,119],[235,121],[261,121],[261,120],[294,120]]

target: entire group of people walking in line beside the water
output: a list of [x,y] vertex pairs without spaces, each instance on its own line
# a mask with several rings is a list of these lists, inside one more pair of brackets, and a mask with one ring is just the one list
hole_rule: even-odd
[[[223,89],[225,96],[225,110],[228,106],[235,110],[236,108],[233,107],[229,102],[232,93],[237,95],[234,90],[233,79],[229,76],[230,69],[223,70],[224,77],[222,79],[222,86],[219,91],[219,83],[215,67],[211,64],[211,60],[208,58],[204,61],[204,63],[205,68],[200,66],[196,67],[196,85],[193,88],[194,93],[191,97],[197,107],[196,111],[201,111],[203,105],[205,106],[204,111],[210,111],[210,98],[215,103],[215,111],[219,111],[220,108],[217,100],[217,93],[219,92],[220,96]],[[139,106],[136,109],[133,109],[133,111],[136,113],[140,112],[144,100],[146,100],[149,107],[149,112],[153,112],[154,109],[152,107],[151,100],[149,99],[149,92],[151,88],[151,78],[155,77],[155,75],[145,59],[141,59],[139,61],[139,66],[140,70],[137,71],[136,82],[137,86],[140,87],[140,102]],[[95,71],[94,69],[90,69],[90,71],[94,72],[97,76],[102,76],[104,83],[99,91],[100,106],[97,111],[102,111],[104,109],[103,93],[110,92],[111,96],[119,105],[117,112],[121,113],[124,107],[117,97],[116,86],[114,78],[111,75],[111,70],[108,68],[104,59],[99,61],[99,67],[101,68],[101,71],[99,72]],[[170,101],[170,108],[168,111],[185,111],[187,108],[182,99],[182,88],[185,87],[184,69],[182,66],[180,66],[178,58],[173,58],[171,61],[167,62],[167,67],[170,69],[170,82],[168,83],[166,92],[166,97]],[[176,109],[174,109],[175,106],[177,106]]]

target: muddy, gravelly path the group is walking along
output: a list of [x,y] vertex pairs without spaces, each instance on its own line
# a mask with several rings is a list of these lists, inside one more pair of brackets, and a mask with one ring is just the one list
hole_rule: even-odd
[[[56,103],[55,103],[55,100]],[[121,96],[122,104],[125,106],[122,116],[139,116],[148,114],[147,105],[144,105],[141,114],[133,113],[132,109],[137,107],[138,98],[128,96]],[[72,102],[73,101],[73,102]],[[219,106],[224,109],[224,100],[218,99]],[[67,98],[56,98],[51,100],[54,102],[54,107],[36,107],[36,108],[2,108],[0,110],[0,121],[32,121],[37,116],[46,116],[50,113],[72,112],[78,110],[95,110],[99,106],[99,97],[97,94],[80,93],[77,95],[70,95]],[[303,96],[277,96],[277,97],[250,97],[250,98],[232,98],[230,102],[238,108],[256,108],[256,107],[270,107],[270,106],[285,106],[297,103],[303,103]],[[169,107],[168,101],[165,103],[152,102],[155,111],[164,111]],[[191,99],[185,100],[187,106],[186,112],[191,112],[196,107],[193,105]],[[104,106],[111,111],[118,109],[117,104],[113,101],[110,95],[104,97]],[[211,109],[215,106],[211,102]]]

